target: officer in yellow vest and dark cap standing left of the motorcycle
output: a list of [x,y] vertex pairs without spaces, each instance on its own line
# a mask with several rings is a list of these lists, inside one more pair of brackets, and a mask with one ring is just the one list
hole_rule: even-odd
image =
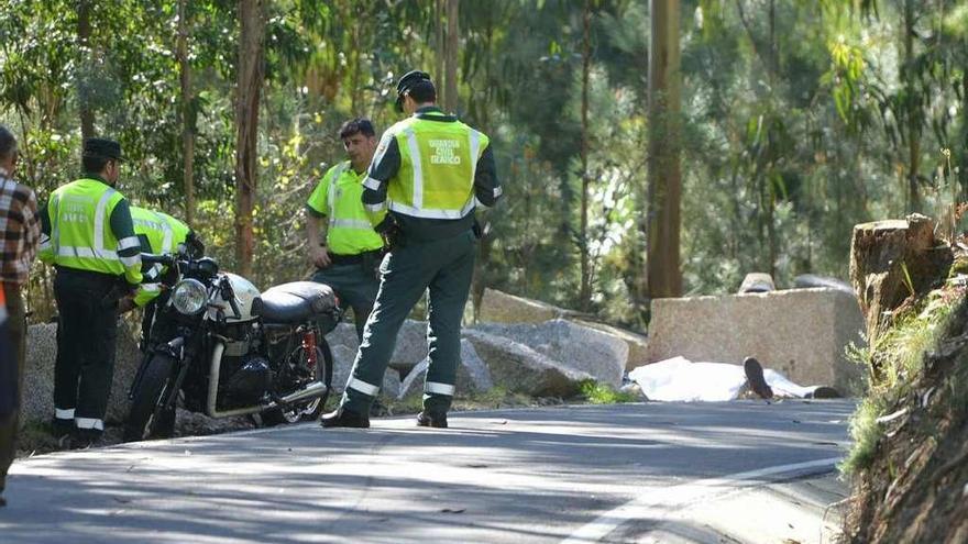
[[41,260],[57,270],[59,313],[54,368],[54,430],[75,445],[97,441],[114,371],[118,301],[141,282],[131,211],[114,189],[121,145],[84,143],[84,176],[51,195],[41,212]]

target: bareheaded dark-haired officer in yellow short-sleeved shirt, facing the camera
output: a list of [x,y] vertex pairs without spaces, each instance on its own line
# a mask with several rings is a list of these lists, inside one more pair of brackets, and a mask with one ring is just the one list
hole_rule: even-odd
[[317,267],[311,279],[332,287],[343,309],[353,308],[356,336],[362,340],[380,288],[376,267],[383,257],[383,238],[370,224],[361,200],[376,132],[369,119],[353,119],[340,127],[340,140],[350,159],[330,168],[306,202],[309,258]]

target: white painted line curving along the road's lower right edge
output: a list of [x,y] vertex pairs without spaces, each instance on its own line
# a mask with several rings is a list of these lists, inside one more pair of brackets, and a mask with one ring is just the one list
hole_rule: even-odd
[[707,498],[717,491],[730,491],[738,487],[754,485],[760,478],[785,474],[800,474],[802,476],[820,474],[833,468],[840,460],[842,457],[829,457],[719,476],[661,490],[648,488],[635,499],[605,512],[595,521],[580,528],[571,536],[562,541],[562,544],[598,542],[630,520],[648,519],[658,522],[672,510],[676,510],[679,507],[701,498]]

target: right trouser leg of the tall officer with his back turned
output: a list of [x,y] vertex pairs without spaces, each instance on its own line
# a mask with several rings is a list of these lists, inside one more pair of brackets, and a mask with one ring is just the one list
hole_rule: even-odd
[[[446,412],[453,400],[461,364],[461,319],[474,275],[474,238],[470,232],[449,241],[439,253],[446,258],[430,282],[428,303],[430,366],[425,382],[424,409]],[[450,386],[437,387],[437,385]]]

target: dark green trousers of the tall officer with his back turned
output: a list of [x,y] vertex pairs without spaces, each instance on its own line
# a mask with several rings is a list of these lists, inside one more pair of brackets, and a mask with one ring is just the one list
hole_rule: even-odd
[[380,292],[346,382],[342,406],[364,415],[380,392],[404,320],[427,289],[430,367],[424,408],[446,412],[454,393],[461,357],[461,320],[474,274],[471,231],[429,242],[405,240],[383,259]]

